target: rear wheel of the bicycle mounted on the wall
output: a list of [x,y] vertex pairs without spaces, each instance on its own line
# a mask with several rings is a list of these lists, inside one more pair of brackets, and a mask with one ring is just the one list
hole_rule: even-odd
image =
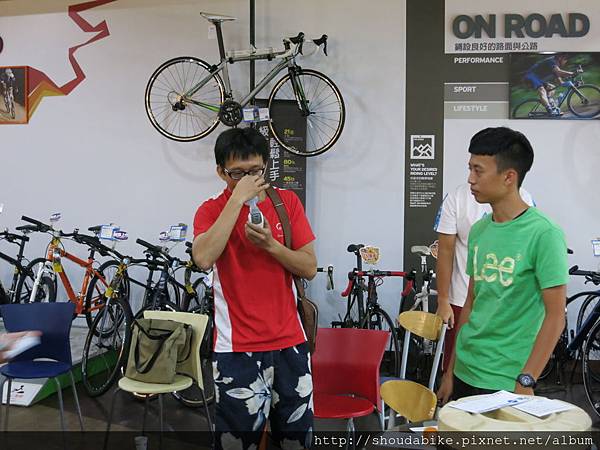
[[[192,73],[193,72],[193,73]],[[146,85],[145,105],[150,123],[163,136],[179,142],[201,139],[219,124],[219,111],[211,111],[195,103],[182,103],[174,109],[181,96],[212,73],[212,66],[191,56],[177,57],[164,62],[154,71]],[[191,79],[188,77],[191,76]],[[225,100],[225,85],[218,73],[192,98],[194,102],[220,107]],[[182,122],[185,130],[182,132]]]

